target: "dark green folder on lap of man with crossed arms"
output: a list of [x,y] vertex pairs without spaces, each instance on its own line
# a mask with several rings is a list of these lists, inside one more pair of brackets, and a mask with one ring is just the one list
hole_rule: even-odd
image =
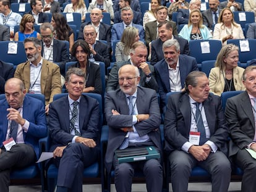
[[115,155],[119,164],[122,162],[145,161],[148,159],[159,159],[160,153],[154,146],[145,146],[142,148],[117,149]]

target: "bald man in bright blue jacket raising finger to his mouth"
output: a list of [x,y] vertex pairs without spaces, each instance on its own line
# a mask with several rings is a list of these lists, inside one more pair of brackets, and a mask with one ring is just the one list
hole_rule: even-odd
[[[5,93],[6,99],[0,101],[1,191],[9,191],[12,169],[35,164],[39,158],[38,140],[47,135],[45,107],[39,99],[25,96],[23,82],[18,78],[7,80]],[[13,144],[7,147],[11,138]],[[7,140],[9,144],[2,144]]]

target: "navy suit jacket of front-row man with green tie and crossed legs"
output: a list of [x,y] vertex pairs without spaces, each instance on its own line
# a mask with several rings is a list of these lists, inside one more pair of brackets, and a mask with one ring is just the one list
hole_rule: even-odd
[[[49,106],[49,131],[51,134],[50,151],[58,146],[72,142],[74,135],[69,128],[69,100],[67,96],[53,101]],[[96,143],[100,136],[100,108],[94,98],[82,95],[79,102],[79,128],[83,138],[91,138]]]

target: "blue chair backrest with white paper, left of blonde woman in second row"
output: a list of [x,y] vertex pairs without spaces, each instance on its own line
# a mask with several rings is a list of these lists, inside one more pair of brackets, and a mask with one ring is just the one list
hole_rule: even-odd
[[[208,42],[210,45],[210,52],[202,53],[201,43]],[[200,64],[203,61],[215,60],[222,48],[220,40],[193,40],[189,41],[190,56],[197,59]]]

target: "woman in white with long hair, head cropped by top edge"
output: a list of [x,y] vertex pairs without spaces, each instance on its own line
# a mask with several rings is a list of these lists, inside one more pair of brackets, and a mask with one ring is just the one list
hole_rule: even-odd
[[72,0],[70,4],[67,4],[64,13],[79,13],[81,14],[81,22],[85,20],[85,14],[87,13],[87,8],[83,0]]

